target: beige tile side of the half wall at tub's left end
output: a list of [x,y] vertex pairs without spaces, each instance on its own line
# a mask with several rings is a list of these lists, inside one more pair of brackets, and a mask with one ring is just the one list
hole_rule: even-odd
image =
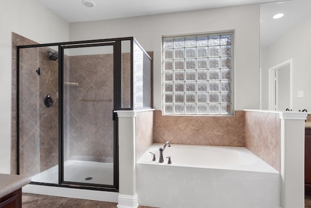
[[136,116],[136,159],[138,160],[153,142],[154,111],[138,112]]

